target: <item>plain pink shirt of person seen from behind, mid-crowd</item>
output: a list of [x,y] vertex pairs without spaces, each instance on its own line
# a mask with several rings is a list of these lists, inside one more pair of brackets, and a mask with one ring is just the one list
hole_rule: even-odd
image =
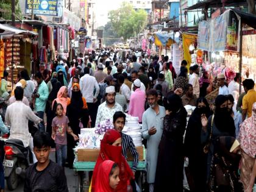
[[137,90],[130,96],[129,112],[132,116],[138,116],[139,122],[142,122],[142,115],[144,112],[144,105],[146,101],[145,91],[137,88]]

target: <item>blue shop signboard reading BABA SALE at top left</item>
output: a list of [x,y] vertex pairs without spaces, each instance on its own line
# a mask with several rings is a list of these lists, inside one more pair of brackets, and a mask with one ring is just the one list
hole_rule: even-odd
[[34,15],[58,15],[58,0],[26,0],[26,14]]

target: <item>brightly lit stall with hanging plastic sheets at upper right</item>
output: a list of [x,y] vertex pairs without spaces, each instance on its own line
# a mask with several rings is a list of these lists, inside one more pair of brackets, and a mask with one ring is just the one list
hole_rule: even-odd
[[242,80],[256,80],[255,22],[255,15],[229,9],[213,20],[199,23],[197,49],[208,54],[205,69],[212,71],[213,77],[224,73],[229,83],[240,73]]

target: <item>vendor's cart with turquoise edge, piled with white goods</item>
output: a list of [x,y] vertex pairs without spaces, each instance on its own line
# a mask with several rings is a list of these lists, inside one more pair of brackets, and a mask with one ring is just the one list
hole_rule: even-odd
[[[96,161],[100,155],[101,140],[107,130],[114,129],[110,119],[102,121],[97,127],[80,129],[79,143],[74,148],[75,160],[73,163],[74,171],[77,172],[77,191],[84,191],[90,185],[88,171],[93,171]],[[126,116],[126,125],[122,131],[132,137],[133,144],[138,152],[138,166],[136,172],[137,183],[141,187],[141,178],[146,178],[146,149],[142,144],[141,124],[137,117]],[[127,162],[132,168],[133,157],[130,151],[127,151]],[[85,172],[86,182],[83,179]]]

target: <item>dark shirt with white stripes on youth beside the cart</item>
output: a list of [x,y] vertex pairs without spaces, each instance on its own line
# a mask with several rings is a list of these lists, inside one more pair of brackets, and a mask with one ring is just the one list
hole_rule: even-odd
[[126,135],[124,133],[121,133],[121,134],[122,134],[122,153],[123,153],[124,157],[127,159],[127,149],[129,148],[130,153],[133,156],[132,171],[136,171],[137,166],[138,166],[137,149],[135,148],[132,138],[129,135]]

